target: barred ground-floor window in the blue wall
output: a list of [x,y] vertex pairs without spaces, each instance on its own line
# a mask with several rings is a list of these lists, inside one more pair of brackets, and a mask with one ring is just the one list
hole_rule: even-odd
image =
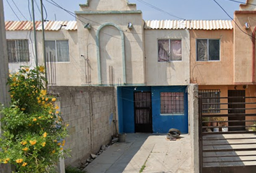
[[184,114],[184,93],[161,92],[161,114]]

